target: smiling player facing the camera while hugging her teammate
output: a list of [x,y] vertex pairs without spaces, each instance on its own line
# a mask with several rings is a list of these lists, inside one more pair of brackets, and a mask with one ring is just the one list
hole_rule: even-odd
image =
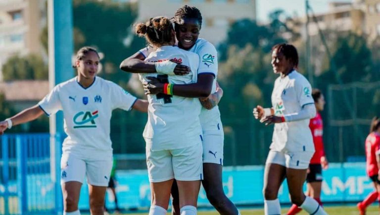
[[[198,39],[202,25],[202,15],[193,6],[184,5],[179,8],[174,16],[175,31],[178,47],[196,53],[201,59],[196,83],[175,85],[173,94],[176,96],[197,98],[203,106],[199,115],[203,133],[203,173],[202,185],[205,189],[207,199],[221,215],[238,215],[238,209],[227,198],[223,191],[222,165],[224,133],[220,119],[219,107],[217,106],[223,90],[217,85],[218,56],[215,47],[204,39]],[[159,72],[165,73],[169,70],[175,74],[184,74],[189,71],[185,65],[167,62],[149,63],[142,61],[151,49],[145,48],[138,53],[125,59],[120,68],[129,72]],[[162,71],[164,70],[164,71]],[[163,92],[163,84],[152,79],[149,85],[145,85],[147,94]],[[210,92],[212,93],[211,95]],[[179,214],[179,201],[176,183],[173,184],[173,215]]]

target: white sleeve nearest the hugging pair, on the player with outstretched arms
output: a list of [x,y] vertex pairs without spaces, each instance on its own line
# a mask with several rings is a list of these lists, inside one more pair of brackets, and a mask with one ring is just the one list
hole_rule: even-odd
[[111,88],[112,109],[131,110],[137,98],[115,83],[111,84]]

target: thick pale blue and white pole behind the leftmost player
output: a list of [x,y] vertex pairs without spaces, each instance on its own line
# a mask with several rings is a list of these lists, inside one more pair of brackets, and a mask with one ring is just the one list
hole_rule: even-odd
[[[73,54],[72,0],[48,0],[48,56],[49,89],[73,76],[71,56]],[[63,201],[60,188],[61,140],[64,135],[63,113],[49,117],[50,130],[50,175],[54,183],[54,214],[62,215]]]

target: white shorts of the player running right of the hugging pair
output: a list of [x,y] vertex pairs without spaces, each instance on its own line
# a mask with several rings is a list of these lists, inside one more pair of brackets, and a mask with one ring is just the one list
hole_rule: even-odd
[[314,152],[277,152],[269,151],[266,163],[277,163],[286,168],[307,169]]

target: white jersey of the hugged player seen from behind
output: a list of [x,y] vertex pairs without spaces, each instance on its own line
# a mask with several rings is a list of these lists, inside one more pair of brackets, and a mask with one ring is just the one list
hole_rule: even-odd
[[[190,84],[197,80],[199,66],[197,54],[175,46],[163,46],[151,52],[145,61],[160,62],[177,59],[190,67],[187,75],[163,75],[157,73],[139,74],[142,82],[146,77],[157,77],[162,83]],[[197,98],[185,98],[165,94],[148,95],[148,121],[143,137],[146,147],[152,151],[172,150],[189,147],[199,142],[201,127],[199,114],[201,105]]]

